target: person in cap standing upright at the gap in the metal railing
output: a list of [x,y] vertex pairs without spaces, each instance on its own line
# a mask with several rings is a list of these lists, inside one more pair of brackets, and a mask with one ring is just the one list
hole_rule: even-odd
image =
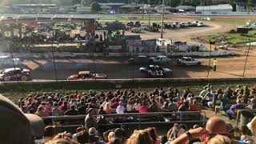
[[95,127],[97,128],[97,121],[96,121],[96,118],[94,118],[94,114],[95,114],[95,111],[93,108],[90,108],[88,110],[88,114],[86,115],[86,119],[85,119],[85,127],[86,127],[86,130],[88,131],[91,127]]

